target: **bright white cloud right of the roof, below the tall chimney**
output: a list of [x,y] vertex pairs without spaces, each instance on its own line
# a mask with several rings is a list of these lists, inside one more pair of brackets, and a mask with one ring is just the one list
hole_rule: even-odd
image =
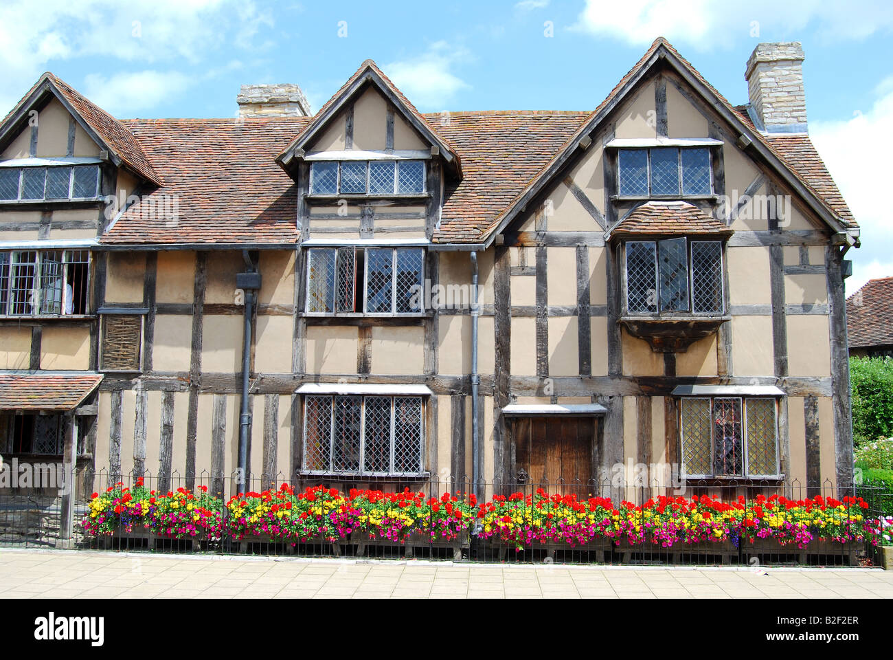
[[847,258],[853,259],[847,292],[855,292],[873,277],[893,275],[889,202],[879,192],[889,189],[889,155],[893,153],[891,82],[893,79],[878,85],[881,95],[867,112],[856,111],[848,120],[809,126],[815,148],[862,229],[862,247],[847,252]]

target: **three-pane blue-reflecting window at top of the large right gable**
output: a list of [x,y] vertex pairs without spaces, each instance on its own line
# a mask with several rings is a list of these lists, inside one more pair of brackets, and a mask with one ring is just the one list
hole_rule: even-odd
[[713,193],[708,148],[656,147],[618,152],[624,197],[686,197]]

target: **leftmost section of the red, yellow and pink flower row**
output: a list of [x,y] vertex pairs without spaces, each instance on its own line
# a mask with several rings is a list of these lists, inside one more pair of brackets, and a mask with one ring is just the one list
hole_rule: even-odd
[[148,531],[158,537],[217,540],[222,530],[222,503],[208,495],[178,488],[158,493],[137,479],[133,490],[120,482],[103,494],[94,493],[82,525],[88,537]]

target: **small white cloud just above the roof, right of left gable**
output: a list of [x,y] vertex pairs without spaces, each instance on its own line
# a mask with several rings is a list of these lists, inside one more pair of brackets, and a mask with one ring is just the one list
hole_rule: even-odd
[[189,77],[180,72],[116,73],[105,78],[91,73],[84,79],[84,96],[114,116],[130,116],[182,94]]

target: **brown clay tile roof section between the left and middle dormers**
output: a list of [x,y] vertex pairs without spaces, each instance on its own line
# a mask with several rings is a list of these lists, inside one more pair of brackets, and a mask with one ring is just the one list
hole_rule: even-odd
[[125,120],[164,186],[104,234],[114,244],[297,241],[296,183],[273,158],[306,118]]

